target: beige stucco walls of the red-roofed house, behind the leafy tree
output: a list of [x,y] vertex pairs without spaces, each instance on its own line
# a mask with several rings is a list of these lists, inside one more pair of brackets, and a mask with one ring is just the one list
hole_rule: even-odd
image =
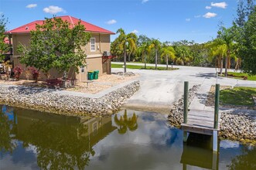
[[[111,64],[110,59],[104,64],[102,64],[102,53],[104,51],[110,51],[111,43],[110,43],[110,35],[107,34],[100,34],[100,33],[92,33],[91,37],[94,37],[96,40],[96,50],[95,52],[90,51],[90,42],[87,43],[87,46],[84,46],[84,50],[87,53],[87,60],[86,62],[89,63],[88,68],[84,68],[85,73],[78,73],[76,74],[73,69],[70,70],[68,73],[69,78],[77,78],[78,81],[85,81],[87,80],[87,70],[99,70],[99,76],[103,73],[111,73]],[[12,41],[13,41],[13,56],[12,61],[14,66],[22,66],[22,69],[27,70],[25,65],[19,63],[19,53],[17,53],[17,46],[19,43],[22,45],[29,46],[30,34],[13,34]],[[80,68],[79,68],[80,71]],[[50,79],[52,78],[59,78],[63,76],[63,73],[59,73],[59,71],[52,69],[49,71]],[[21,75],[21,79],[26,79],[25,71]],[[32,79],[30,76],[29,79]],[[39,80],[46,80],[46,76],[43,73],[40,73]]]

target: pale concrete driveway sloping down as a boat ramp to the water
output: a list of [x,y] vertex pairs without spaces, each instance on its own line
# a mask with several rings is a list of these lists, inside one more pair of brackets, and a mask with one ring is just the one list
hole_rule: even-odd
[[[135,64],[142,65],[143,64]],[[154,66],[154,65],[147,65]],[[164,66],[164,65],[159,65]],[[202,109],[204,100],[210,90],[211,85],[217,83],[215,68],[193,67],[193,66],[173,66],[179,70],[127,70],[128,72],[139,73],[141,89],[132,96],[125,104],[126,108],[135,110],[152,111],[159,113],[169,113],[172,104],[183,95],[183,83],[189,81],[189,88],[195,84],[201,84],[198,91],[198,98],[193,100],[190,107]],[[112,72],[122,71],[122,69],[112,69]],[[245,86],[256,87],[255,81],[234,80],[230,78],[218,78],[220,86]],[[201,108],[199,108],[201,107]]]

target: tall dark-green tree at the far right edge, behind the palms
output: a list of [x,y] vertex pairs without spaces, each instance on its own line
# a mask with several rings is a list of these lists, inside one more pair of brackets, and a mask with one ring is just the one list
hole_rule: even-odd
[[249,15],[247,22],[244,23],[238,42],[238,54],[243,59],[244,72],[256,74],[256,6],[254,6],[254,12]]

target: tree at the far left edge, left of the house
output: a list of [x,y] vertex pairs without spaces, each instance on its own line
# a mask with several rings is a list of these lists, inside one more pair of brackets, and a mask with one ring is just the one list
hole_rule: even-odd
[[9,44],[7,44],[5,42],[6,39],[6,24],[8,23],[8,19],[5,18],[5,15],[1,15],[0,16],[0,61],[2,61],[2,59],[4,59],[4,55],[5,53],[9,52]]

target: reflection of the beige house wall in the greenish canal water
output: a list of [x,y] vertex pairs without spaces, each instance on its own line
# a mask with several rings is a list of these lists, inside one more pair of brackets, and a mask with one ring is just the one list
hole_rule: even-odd
[[[61,141],[63,141],[64,143],[67,142],[65,141],[66,139],[73,138],[75,136],[77,138],[77,142],[81,141],[83,143],[84,141],[87,141],[86,143],[90,147],[92,147],[95,144],[97,144],[98,141],[101,141],[101,139],[103,139],[105,136],[111,133],[111,131],[114,131],[114,129],[116,129],[112,126],[111,117],[68,117],[58,114],[44,114],[36,110],[22,110],[20,108],[19,110],[14,110],[14,112],[17,117],[16,137],[21,141],[29,139],[23,138],[24,134],[28,134],[29,131],[31,131],[32,129],[36,130],[41,128],[47,129],[47,134],[38,134],[40,137],[29,135],[29,137],[43,138],[43,135],[53,134],[53,136],[48,136],[47,138],[56,138],[54,132],[56,132],[57,129],[58,133],[63,133],[63,139]],[[41,124],[42,122],[44,123]],[[51,130],[53,130],[53,133],[51,133]],[[67,135],[70,136],[67,137]],[[26,142],[30,143],[30,141]],[[50,143],[51,141],[48,142]],[[31,144],[37,145],[36,143]]]

